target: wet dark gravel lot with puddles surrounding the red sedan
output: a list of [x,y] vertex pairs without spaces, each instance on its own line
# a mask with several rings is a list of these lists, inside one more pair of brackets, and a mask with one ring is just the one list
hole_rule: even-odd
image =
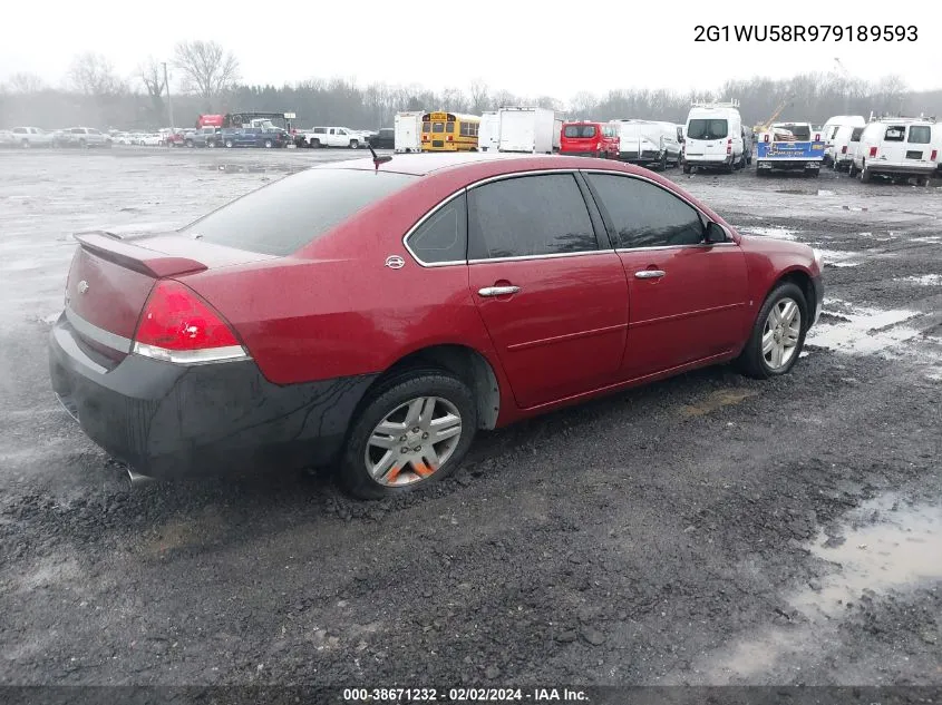
[[128,492],[57,405],[75,231],[157,229],[344,151],[0,154],[0,683],[942,684],[942,184],[668,174],[825,252],[794,372],[476,442],[433,491]]

